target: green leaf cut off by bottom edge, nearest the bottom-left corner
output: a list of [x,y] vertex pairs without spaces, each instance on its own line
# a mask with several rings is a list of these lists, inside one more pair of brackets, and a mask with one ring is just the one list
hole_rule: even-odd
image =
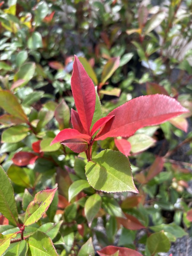
[[25,240],[19,243],[11,244],[12,247],[8,249],[8,252],[4,256],[26,256],[28,252],[28,243]]

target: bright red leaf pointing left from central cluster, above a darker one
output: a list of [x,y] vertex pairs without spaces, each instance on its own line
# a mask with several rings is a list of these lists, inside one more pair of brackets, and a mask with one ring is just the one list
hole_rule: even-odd
[[51,144],[56,142],[61,142],[63,140],[70,140],[70,139],[90,139],[91,137],[87,134],[80,133],[75,129],[64,129],[60,131],[54,140],[52,140]]

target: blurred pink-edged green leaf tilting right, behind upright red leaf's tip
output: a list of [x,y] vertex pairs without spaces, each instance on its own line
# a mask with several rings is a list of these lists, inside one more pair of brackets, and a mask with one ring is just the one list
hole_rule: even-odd
[[105,82],[113,75],[116,69],[119,67],[120,58],[114,57],[108,60],[105,67],[103,68],[103,72],[101,75],[101,84],[105,84]]

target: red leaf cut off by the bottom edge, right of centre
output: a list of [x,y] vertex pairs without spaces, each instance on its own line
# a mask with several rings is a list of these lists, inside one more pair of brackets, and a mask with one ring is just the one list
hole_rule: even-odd
[[102,250],[97,251],[100,256],[108,256],[114,254],[116,251],[119,251],[119,256],[142,256],[140,252],[132,250],[130,248],[117,247],[113,245],[109,245],[104,247]]

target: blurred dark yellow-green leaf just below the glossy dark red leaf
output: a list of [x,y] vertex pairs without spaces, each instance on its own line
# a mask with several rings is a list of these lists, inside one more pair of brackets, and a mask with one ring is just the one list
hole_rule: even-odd
[[11,165],[7,171],[7,175],[12,180],[12,182],[21,187],[32,187],[30,183],[29,169],[27,168]]

